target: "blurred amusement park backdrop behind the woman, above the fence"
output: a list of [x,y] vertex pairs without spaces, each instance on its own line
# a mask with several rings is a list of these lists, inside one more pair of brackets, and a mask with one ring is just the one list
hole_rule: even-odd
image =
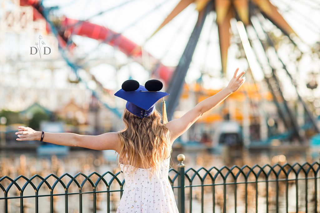
[[[186,167],[319,161],[319,0],[2,0],[0,177],[117,172],[116,153],[16,141],[17,127],[119,131],[128,79],[164,83],[170,119],[246,82],[173,144]],[[161,111],[161,104],[156,105]]]

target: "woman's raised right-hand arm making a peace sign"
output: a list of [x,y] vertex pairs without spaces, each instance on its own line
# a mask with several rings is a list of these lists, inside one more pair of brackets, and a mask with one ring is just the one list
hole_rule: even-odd
[[175,139],[177,139],[181,134],[186,132],[192,124],[196,122],[205,112],[212,110],[218,104],[220,104],[224,99],[226,99],[231,93],[235,92],[244,83],[245,77],[241,76],[245,72],[241,72],[237,76],[239,68],[236,69],[233,78],[230,80],[227,87],[222,89],[217,94],[201,101],[194,108],[189,110],[181,118],[174,119],[166,124],[166,127],[171,132],[171,144]]

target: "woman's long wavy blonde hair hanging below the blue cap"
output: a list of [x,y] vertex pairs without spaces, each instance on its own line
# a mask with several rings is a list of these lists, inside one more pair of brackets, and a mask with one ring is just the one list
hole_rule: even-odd
[[130,165],[136,167],[132,172],[139,168],[151,168],[149,178],[154,174],[159,177],[160,165],[172,150],[170,132],[162,123],[162,116],[154,110],[148,117],[139,118],[124,109],[123,121],[125,127],[118,132],[118,166],[120,158],[124,168],[128,169]]

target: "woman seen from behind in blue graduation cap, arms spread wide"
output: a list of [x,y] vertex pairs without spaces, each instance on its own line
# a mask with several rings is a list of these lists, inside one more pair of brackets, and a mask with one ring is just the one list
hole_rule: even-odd
[[227,87],[189,110],[181,118],[161,123],[154,103],[169,95],[159,92],[162,83],[147,81],[145,87],[128,80],[115,95],[127,100],[123,114],[125,128],[101,135],[44,133],[19,126],[17,141],[41,140],[53,144],[96,150],[112,149],[124,172],[125,189],[117,212],[178,212],[168,180],[172,143],[205,112],[213,109],[245,81],[236,69]]

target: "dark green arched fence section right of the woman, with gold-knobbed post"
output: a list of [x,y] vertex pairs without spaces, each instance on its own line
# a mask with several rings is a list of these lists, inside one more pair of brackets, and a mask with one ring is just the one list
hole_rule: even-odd
[[[177,172],[184,174],[188,182],[186,185],[179,176],[180,186],[184,186],[179,188],[178,193],[180,212],[186,212],[186,194],[189,204],[187,212],[319,212],[318,162],[185,170],[184,159],[183,155],[178,155],[181,163]],[[193,188],[196,187],[200,187],[200,205],[197,209],[192,205],[196,201],[193,196]],[[209,192],[207,194],[212,197],[210,199],[207,196],[208,205],[204,205],[204,192]],[[241,202],[237,202],[239,200]]]

